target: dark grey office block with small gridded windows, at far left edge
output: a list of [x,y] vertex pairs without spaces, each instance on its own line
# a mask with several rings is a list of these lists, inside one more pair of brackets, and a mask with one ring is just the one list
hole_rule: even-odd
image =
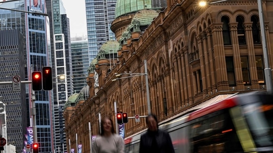
[[[0,13],[0,16],[3,15]],[[0,17],[1,18],[1,17]],[[7,21],[7,19],[5,20]],[[8,22],[0,23],[0,27]],[[19,30],[0,30],[0,82],[10,82],[13,76],[19,76],[24,80],[24,48],[23,37]],[[21,85],[20,92],[13,92],[11,84],[0,85],[0,103],[1,108],[6,105],[6,111],[0,112],[1,135],[6,137],[8,144],[17,147],[17,150],[23,149],[23,136],[26,134],[27,120],[27,102],[21,97],[26,97],[25,86]],[[5,118],[6,121],[5,122]],[[5,124],[6,131],[2,131]]]

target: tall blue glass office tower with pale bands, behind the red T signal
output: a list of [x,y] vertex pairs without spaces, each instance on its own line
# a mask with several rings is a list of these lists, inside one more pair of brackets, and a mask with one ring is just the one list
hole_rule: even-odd
[[[38,11],[45,13],[44,0],[19,0],[6,2],[1,7],[20,9],[25,11]],[[17,11],[0,9],[0,19],[5,20],[4,24],[0,24],[0,30],[18,29],[23,36],[24,48],[24,69],[25,80],[31,80],[31,68],[33,71],[41,71],[43,66],[51,66],[48,51],[47,41],[47,18],[41,15],[33,15],[31,13],[21,13]],[[14,94],[14,93],[13,93]],[[29,104],[28,112],[31,106],[31,84],[26,85],[26,103]],[[36,121],[37,121],[37,140],[39,143],[39,153],[50,153],[53,150],[52,138],[52,115],[51,115],[51,92],[36,91],[35,92],[35,107],[36,107]],[[10,105],[6,105],[6,108]],[[12,111],[12,109],[10,109]],[[7,116],[9,111],[6,112]],[[30,126],[30,113],[24,119],[27,126]],[[7,124],[9,124],[7,122]],[[14,124],[14,123],[10,123]],[[21,127],[24,128],[24,127]],[[18,142],[7,140],[8,143],[16,146],[18,152],[22,152],[24,148],[24,134],[21,133]],[[7,127],[7,137],[14,135],[14,132]]]

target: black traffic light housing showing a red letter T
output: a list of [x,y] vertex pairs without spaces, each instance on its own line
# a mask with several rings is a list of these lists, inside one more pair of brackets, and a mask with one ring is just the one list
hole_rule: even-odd
[[52,90],[52,68],[45,66],[42,68],[43,74],[43,90]]

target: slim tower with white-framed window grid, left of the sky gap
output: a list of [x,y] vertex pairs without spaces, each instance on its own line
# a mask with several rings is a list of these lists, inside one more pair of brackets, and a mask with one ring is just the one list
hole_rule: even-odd
[[[53,67],[54,150],[66,152],[63,106],[73,93],[69,18],[62,0],[46,0],[50,21],[51,60]],[[64,79],[61,77],[64,76]]]

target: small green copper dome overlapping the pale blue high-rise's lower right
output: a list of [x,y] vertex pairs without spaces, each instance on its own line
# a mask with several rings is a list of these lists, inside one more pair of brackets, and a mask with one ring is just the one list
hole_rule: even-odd
[[117,53],[120,50],[120,45],[116,40],[109,40],[102,44],[100,50],[103,50],[105,54]]

